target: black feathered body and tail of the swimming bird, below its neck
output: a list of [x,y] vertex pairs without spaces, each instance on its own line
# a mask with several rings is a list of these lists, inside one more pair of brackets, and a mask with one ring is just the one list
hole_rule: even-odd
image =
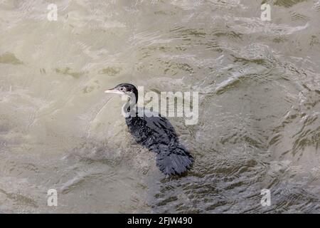
[[193,157],[178,140],[169,120],[161,115],[126,118],[130,132],[137,142],[156,152],[156,165],[165,175],[186,172]]

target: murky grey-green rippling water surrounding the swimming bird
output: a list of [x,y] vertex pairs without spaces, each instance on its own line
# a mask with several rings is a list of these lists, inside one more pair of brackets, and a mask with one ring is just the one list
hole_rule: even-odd
[[[319,212],[319,2],[48,4],[0,6],[1,212]],[[188,175],[127,133],[120,82],[200,92],[197,125],[171,118]]]

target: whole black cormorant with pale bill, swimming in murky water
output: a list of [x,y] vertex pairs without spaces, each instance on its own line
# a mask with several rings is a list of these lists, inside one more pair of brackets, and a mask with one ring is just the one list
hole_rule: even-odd
[[156,165],[161,172],[165,175],[181,175],[191,167],[193,157],[179,142],[169,120],[146,108],[137,108],[138,90],[134,85],[121,83],[105,93],[127,95],[124,115],[129,132],[139,144],[156,152]]

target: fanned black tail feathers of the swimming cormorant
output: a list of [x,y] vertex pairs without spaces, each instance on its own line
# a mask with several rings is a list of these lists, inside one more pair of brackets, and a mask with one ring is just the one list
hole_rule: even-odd
[[156,165],[165,175],[181,175],[192,165],[194,159],[183,145],[168,147],[156,156]]

